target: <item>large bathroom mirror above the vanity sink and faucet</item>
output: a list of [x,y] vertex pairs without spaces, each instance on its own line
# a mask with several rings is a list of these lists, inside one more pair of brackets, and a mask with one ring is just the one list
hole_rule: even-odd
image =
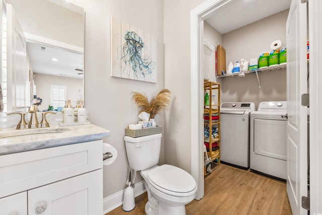
[[[84,99],[84,9],[65,0],[4,1],[4,20],[15,25],[3,31],[14,41],[9,48],[11,42],[7,39],[7,51],[19,55],[11,59],[12,66],[10,59],[7,68],[2,65],[2,77],[7,70],[8,81],[6,92],[3,90],[7,93],[5,111],[26,111],[35,103],[40,111],[49,105],[57,109],[65,100],[75,106],[76,100]],[[3,59],[5,52],[3,46]],[[10,54],[7,56],[10,58]],[[19,57],[21,60],[15,61]],[[21,73],[15,74],[19,69]]]

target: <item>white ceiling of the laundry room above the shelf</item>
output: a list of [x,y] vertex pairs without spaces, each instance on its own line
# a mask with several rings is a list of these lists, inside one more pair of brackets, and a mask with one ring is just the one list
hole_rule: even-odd
[[289,9],[290,5],[291,0],[235,0],[223,5],[205,21],[220,34],[225,34]]

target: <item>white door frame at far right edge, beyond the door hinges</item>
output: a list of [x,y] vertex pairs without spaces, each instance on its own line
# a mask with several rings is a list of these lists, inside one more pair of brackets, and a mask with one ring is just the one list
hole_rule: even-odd
[[310,214],[322,214],[322,1],[308,1],[310,93]]

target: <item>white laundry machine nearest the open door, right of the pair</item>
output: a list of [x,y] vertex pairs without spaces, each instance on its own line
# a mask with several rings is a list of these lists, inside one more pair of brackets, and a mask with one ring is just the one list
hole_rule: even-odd
[[252,171],[286,180],[286,101],[261,102],[251,113]]

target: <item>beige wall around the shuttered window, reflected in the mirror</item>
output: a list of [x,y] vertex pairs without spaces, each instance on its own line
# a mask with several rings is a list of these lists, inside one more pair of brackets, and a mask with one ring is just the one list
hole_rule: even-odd
[[76,100],[83,94],[83,79],[65,78],[61,76],[50,76],[34,73],[37,97],[42,99],[42,104],[38,106],[40,111],[47,110],[50,103],[50,85],[67,86],[67,100],[75,107]]

